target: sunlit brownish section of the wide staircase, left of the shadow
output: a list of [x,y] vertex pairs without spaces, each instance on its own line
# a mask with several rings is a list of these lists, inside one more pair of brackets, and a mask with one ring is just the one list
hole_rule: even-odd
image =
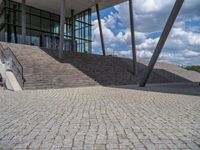
[[97,83],[69,63],[60,63],[38,47],[3,43],[24,68],[24,89],[90,86]]

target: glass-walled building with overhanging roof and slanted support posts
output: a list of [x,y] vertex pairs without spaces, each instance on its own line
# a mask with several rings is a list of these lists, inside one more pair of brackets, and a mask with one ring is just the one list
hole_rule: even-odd
[[[133,74],[137,75],[133,0],[0,0],[0,41],[91,53],[92,12],[97,12],[103,55],[106,56],[100,10],[129,2]],[[144,87],[164,47],[184,0],[175,0],[140,86]],[[96,7],[95,7],[96,6]]]

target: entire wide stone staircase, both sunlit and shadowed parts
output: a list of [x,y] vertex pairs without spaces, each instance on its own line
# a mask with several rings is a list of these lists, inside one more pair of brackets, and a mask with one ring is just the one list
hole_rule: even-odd
[[[4,48],[9,47],[22,64],[26,80],[24,89],[138,84],[146,69],[145,63],[138,63],[138,75],[133,76],[129,59],[67,53],[60,61],[54,50],[21,44],[1,44]],[[153,71],[149,83],[190,82],[189,76],[183,76],[190,74],[189,71],[180,71],[174,65],[171,70],[172,65],[159,65]],[[194,78],[198,75],[194,75]],[[198,78],[192,81],[198,81]]]

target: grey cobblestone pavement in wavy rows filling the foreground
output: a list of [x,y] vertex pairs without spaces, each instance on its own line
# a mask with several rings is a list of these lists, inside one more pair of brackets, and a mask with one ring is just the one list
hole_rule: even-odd
[[0,90],[0,149],[200,149],[200,97],[89,87]]

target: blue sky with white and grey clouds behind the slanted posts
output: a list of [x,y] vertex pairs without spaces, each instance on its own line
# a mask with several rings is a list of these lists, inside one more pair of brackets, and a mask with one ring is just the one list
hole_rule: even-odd
[[[133,0],[137,60],[149,61],[175,0]],[[101,11],[107,55],[131,58],[128,2]],[[96,13],[92,51],[102,54]],[[200,0],[185,0],[159,57],[160,62],[200,65]]]

